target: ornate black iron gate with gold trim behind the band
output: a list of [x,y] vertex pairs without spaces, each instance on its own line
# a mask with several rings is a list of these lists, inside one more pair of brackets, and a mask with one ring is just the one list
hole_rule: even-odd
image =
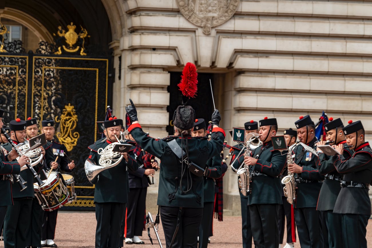
[[[77,200],[64,210],[94,209],[94,186],[87,180],[87,146],[97,139],[97,120],[104,120],[111,102],[111,57],[58,55],[58,48],[41,42],[37,53],[6,46],[0,52],[0,106],[9,110],[5,123],[17,117],[55,120],[55,135],[69,150],[76,168]],[[57,54],[55,52],[57,51]],[[85,51],[89,51],[87,48]]]

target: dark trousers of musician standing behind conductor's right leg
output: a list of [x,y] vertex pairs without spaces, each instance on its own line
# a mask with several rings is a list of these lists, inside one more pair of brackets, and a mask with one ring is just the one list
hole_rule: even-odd
[[213,221],[213,206],[214,202],[205,202],[203,207],[203,218],[199,226],[199,248],[208,246],[208,238],[210,234],[210,228]]

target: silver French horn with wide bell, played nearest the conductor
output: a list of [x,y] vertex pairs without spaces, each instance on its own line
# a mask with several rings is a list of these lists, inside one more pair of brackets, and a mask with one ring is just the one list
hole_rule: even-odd
[[111,144],[106,146],[104,149],[103,148],[98,149],[97,153],[101,155],[98,161],[99,165],[97,165],[90,158],[88,158],[85,161],[85,164],[84,164],[85,174],[87,175],[87,178],[91,183],[92,181],[95,181],[99,173],[109,168],[115,167],[124,158],[124,156],[121,155],[120,152],[112,151],[112,149],[114,148],[116,144],[121,144],[121,141],[124,138],[124,134],[122,134],[122,132],[120,131],[119,138],[116,135],[115,135],[115,138],[118,142],[112,142]]

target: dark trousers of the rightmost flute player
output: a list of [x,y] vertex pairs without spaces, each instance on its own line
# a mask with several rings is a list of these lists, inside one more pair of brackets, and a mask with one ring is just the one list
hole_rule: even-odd
[[367,248],[367,225],[370,215],[342,214],[341,228],[344,248]]

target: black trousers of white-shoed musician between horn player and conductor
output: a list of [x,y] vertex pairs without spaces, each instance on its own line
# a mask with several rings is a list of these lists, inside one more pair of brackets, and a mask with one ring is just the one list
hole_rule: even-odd
[[[125,238],[142,236],[144,216],[146,216],[146,188],[131,188],[128,193],[128,207],[125,226],[122,226],[122,233]],[[123,216],[125,218],[125,216]],[[123,223],[123,222],[122,222]]]

